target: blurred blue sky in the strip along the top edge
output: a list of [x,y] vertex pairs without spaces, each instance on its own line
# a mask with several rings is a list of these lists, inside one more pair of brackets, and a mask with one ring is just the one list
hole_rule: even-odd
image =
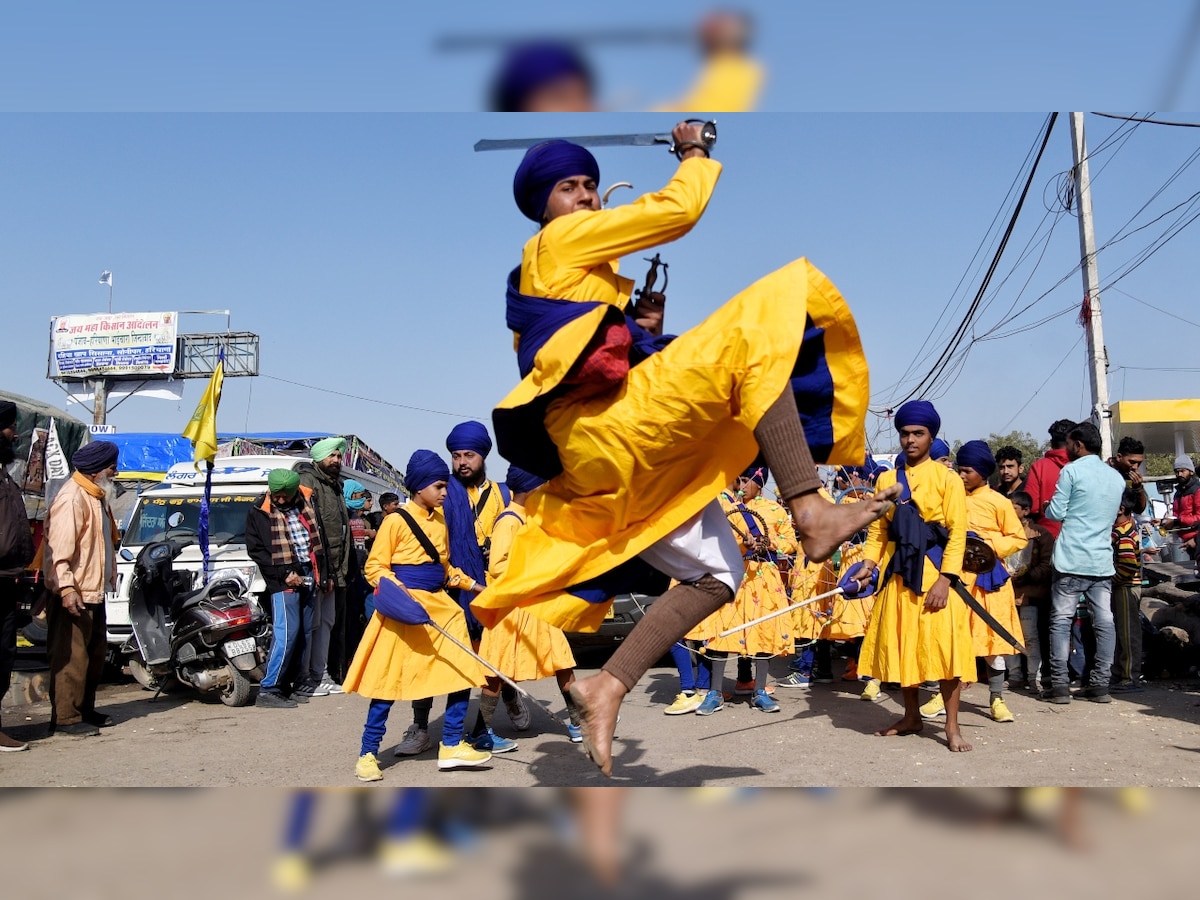
[[[497,62],[439,55],[446,34],[690,28],[716,4],[527,0],[330,4],[210,0],[5,4],[0,109],[468,112]],[[727,6],[752,12],[769,78],[764,112],[1194,108],[1195,0],[860,0]],[[679,95],[684,44],[602,46],[608,109]]]

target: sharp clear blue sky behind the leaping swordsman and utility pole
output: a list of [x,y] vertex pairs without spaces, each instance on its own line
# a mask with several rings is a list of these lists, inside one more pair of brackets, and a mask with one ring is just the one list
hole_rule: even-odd
[[[974,293],[986,260],[972,265],[972,257],[1043,119],[722,116],[716,156],[726,169],[713,203],[692,234],[662,251],[671,265],[670,330],[695,324],[762,274],[808,256],[854,310],[877,401],[894,398],[884,389],[944,324],[938,313]],[[1092,146],[1120,126],[1087,121]],[[648,114],[2,115],[4,386],[62,402],[44,377],[49,317],[103,311],[108,294],[97,280],[109,269],[114,310],[228,307],[234,329],[262,335],[264,377],[227,380],[222,428],[354,432],[403,466],[416,446],[440,449],[456,418],[371,400],[484,418],[516,380],[503,287],[533,226],[511,199],[518,154],[475,154],[472,144],[671,124]],[[1151,125],[1110,142],[1093,161],[1099,240],[1124,226],[1198,149],[1200,130]],[[599,158],[604,185],[628,180],[638,191],[664,185],[676,164],[658,149],[605,150]],[[1069,215],[1009,276],[1031,238],[1045,235],[1054,218],[1045,204],[1052,206],[1056,173],[1069,166],[1061,116],[980,332],[1010,306],[1048,290],[1014,326],[1079,304],[1080,276],[1068,275],[1079,259]],[[1198,175],[1188,168],[1133,224],[1196,193]],[[614,202],[631,197],[618,192]],[[1102,281],[1177,215],[1105,250]],[[1198,234],[1194,227],[1183,232],[1117,287],[1200,322]],[[625,269],[638,278],[643,270],[636,258]],[[1200,396],[1195,373],[1117,368],[1194,367],[1200,326],[1116,290],[1104,305],[1114,400]],[[185,324],[199,330],[202,323]],[[1070,352],[1080,334],[1068,314],[977,344],[938,400],[947,436],[970,439],[1004,426],[1042,436],[1050,421],[1082,415],[1082,346]],[[110,422],[121,431],[179,431],[202,388],[191,382],[180,403],[131,400]],[[876,425],[869,422],[872,436]],[[889,434],[880,439],[889,442]],[[494,468],[503,472],[503,462]]]

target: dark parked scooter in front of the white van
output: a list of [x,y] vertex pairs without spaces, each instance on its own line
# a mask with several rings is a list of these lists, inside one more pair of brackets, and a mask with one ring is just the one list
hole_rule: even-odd
[[[236,569],[217,570],[196,588],[197,572],[175,571],[174,559],[191,541],[148,544],[133,562],[130,622],[133,636],[121,652],[143,688],[162,692],[178,679],[221,702],[244,707],[263,678],[270,623]],[[126,560],[133,559],[122,550]]]

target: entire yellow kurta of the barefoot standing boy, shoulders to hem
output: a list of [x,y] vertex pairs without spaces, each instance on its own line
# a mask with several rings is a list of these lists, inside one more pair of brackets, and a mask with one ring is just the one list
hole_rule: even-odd
[[[928,592],[940,575],[961,575],[962,551],[966,548],[967,504],[962,479],[932,460],[907,469],[912,503],[917,504],[926,522],[936,522],[949,530],[949,541],[938,570],[926,558],[923,589]],[[896,481],[887,470],[880,475],[876,490],[882,491]],[[863,554],[880,565],[880,577],[895,552],[888,540],[888,524],[894,516],[871,523]],[[898,575],[881,584],[871,622],[863,638],[858,656],[858,672],[881,682],[896,682],[912,688],[930,679],[974,679],[974,649],[971,643],[970,610],[962,599],[949,592],[942,610],[925,610],[925,598],[905,586]]]

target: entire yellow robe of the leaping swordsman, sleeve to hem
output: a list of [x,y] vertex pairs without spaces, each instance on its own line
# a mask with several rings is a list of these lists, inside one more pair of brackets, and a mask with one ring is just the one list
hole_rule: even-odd
[[[612,260],[686,234],[720,169],[712,160],[685,160],[662,191],[626,206],[560,216],[526,244],[522,293],[601,306],[540,348],[533,371],[497,408],[497,422],[520,421],[523,410],[546,402],[607,307],[623,310],[629,301],[632,282]],[[858,331],[836,288],[799,259],[634,366],[619,385],[548,404],[541,421],[563,473],[530,498],[506,572],[472,606],[479,619],[486,625],[524,606],[569,631],[598,629],[611,602],[589,604],[566,588],[670,534],[754,460],[754,427],[788,386],[806,317],[824,329],[836,385],[828,458],[860,463],[870,391]]]

